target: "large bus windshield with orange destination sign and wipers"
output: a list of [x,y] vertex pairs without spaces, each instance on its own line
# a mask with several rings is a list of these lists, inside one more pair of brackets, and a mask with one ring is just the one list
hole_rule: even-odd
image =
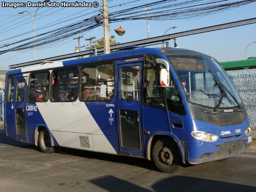
[[166,54],[189,102],[213,108],[239,107],[242,100],[227,73],[213,58],[200,54]]

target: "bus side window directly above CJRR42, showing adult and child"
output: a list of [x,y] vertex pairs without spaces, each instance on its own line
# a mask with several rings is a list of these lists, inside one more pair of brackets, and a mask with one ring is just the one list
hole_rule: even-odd
[[49,72],[30,74],[28,84],[28,101],[42,102],[49,97]]

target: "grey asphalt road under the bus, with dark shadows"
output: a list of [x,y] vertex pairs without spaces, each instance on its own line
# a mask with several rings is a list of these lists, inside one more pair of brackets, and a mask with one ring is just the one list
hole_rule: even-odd
[[256,191],[256,157],[159,172],[144,159],[73,149],[44,154],[8,138],[0,124],[0,192]]

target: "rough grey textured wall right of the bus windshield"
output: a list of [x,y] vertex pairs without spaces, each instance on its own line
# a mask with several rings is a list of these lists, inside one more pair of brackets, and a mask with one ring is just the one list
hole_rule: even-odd
[[256,129],[256,69],[227,71],[244,101],[252,128]]

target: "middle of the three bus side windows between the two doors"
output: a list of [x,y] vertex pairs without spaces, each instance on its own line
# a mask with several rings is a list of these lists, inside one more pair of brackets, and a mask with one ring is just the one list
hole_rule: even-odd
[[51,101],[76,101],[78,97],[78,68],[52,72]]

